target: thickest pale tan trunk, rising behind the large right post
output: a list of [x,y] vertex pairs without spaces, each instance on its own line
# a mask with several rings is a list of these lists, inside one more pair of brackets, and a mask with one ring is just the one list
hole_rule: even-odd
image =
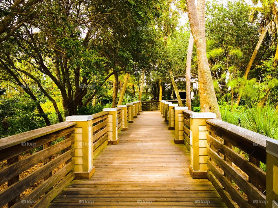
[[216,117],[221,119],[209,61],[206,57],[206,34],[204,24],[205,0],[199,0],[198,10],[195,5],[195,0],[186,0],[188,9],[188,17],[191,28],[191,33],[197,48],[198,58],[198,82],[201,112],[213,112]]

